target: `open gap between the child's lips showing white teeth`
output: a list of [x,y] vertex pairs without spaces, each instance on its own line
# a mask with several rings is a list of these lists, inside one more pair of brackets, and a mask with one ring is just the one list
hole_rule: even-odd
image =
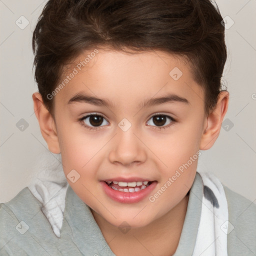
[[145,189],[152,183],[152,181],[123,182],[123,181],[115,181],[115,180],[114,181],[107,180],[105,182],[110,188],[116,191],[118,190],[126,193],[138,192],[140,190]]

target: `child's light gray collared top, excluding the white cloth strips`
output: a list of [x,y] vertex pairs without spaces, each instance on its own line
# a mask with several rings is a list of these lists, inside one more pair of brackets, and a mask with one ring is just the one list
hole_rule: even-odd
[[[226,186],[229,222],[228,255],[256,255],[256,205]],[[191,255],[200,220],[203,184],[196,172],[189,192],[187,212],[173,256]],[[41,203],[28,187],[9,202],[0,204],[0,256],[86,255],[114,256],[89,207],[68,186],[60,238],[41,211]],[[199,255],[198,255],[199,256]],[[221,255],[217,255],[221,256]]]

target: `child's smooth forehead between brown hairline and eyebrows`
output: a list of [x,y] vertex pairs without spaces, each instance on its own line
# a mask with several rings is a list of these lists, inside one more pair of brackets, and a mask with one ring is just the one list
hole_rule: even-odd
[[68,66],[61,82],[64,86],[56,100],[61,98],[65,103],[77,92],[107,98],[116,106],[166,93],[188,100],[203,98],[201,86],[193,80],[187,62],[159,50],[134,53],[102,48],[86,50]]

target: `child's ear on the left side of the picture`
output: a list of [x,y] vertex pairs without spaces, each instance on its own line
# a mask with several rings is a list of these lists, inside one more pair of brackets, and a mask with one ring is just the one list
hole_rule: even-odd
[[58,143],[57,131],[55,120],[43,104],[41,94],[34,92],[32,94],[34,102],[34,112],[40,125],[40,130],[43,138],[45,139],[48,149],[55,154],[60,153]]

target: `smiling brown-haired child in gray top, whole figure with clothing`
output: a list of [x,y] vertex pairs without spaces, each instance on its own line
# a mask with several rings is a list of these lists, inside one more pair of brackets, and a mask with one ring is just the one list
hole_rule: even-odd
[[255,255],[256,206],[200,150],[227,110],[209,0],[49,0],[33,32],[34,111],[66,181],[0,207],[0,255]]

